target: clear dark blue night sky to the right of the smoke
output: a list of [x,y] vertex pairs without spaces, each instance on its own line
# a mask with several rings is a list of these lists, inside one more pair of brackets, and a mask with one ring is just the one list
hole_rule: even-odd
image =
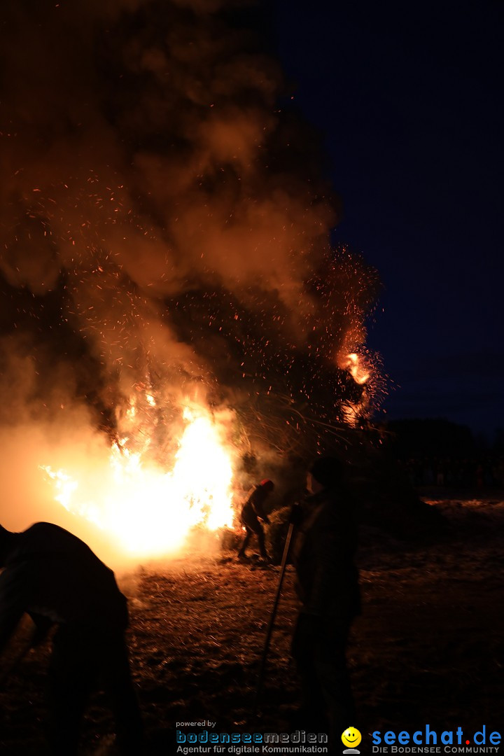
[[[277,2],[289,91],[385,286],[388,417],[490,433],[502,402],[504,4]],[[383,308],[383,311],[382,311]]]

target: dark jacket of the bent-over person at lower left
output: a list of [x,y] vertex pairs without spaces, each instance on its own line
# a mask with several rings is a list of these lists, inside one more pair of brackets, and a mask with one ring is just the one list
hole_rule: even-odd
[[24,612],[88,631],[123,631],[125,596],[111,569],[75,535],[37,522],[16,541],[0,575],[0,652]]

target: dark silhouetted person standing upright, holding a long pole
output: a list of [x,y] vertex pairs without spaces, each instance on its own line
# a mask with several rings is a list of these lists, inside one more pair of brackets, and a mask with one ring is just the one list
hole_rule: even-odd
[[335,457],[317,459],[307,488],[311,495],[292,550],[301,599],[292,656],[301,679],[303,727],[311,732],[329,727],[334,744],[355,724],[345,650],[351,622],[360,613],[357,525]]

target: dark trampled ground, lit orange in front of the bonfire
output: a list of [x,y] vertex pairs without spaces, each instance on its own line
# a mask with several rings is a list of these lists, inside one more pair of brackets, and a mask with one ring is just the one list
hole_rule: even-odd
[[[502,497],[432,500],[447,526],[429,541],[363,531],[363,614],[348,649],[363,733],[431,729],[504,730],[504,503]],[[227,558],[229,557],[229,558]],[[139,569],[130,597],[131,665],[147,730],[147,753],[177,752],[177,722],[212,720],[221,732],[292,732],[298,703],[289,642],[297,602],[292,570],[267,665],[261,711],[255,680],[278,568],[230,555]],[[26,637],[26,627],[11,657]],[[0,752],[45,754],[45,671],[50,649],[29,652],[0,689]],[[4,668],[8,665],[4,663]],[[186,728],[187,730],[187,728]],[[82,754],[112,753],[104,695],[91,701]]]

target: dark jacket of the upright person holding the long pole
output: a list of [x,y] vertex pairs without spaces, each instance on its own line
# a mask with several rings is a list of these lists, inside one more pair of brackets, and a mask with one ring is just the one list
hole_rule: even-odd
[[324,489],[308,497],[292,557],[301,612],[351,621],[360,613],[354,554],[357,525],[348,500]]

